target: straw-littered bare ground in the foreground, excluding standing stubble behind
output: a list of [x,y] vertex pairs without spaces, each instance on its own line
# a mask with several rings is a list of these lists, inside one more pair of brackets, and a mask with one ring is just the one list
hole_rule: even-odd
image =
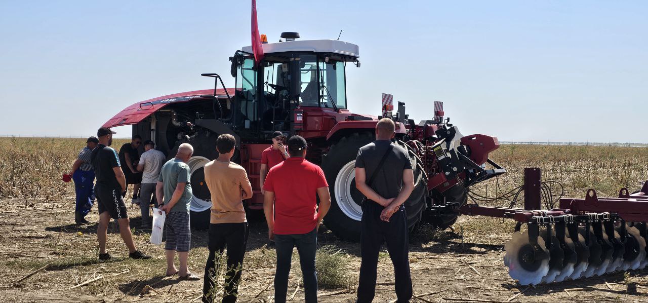
[[[108,248],[116,260],[97,260],[96,207],[91,224],[73,224],[72,197],[55,202],[10,199],[0,202],[0,302],[199,302],[202,281],[179,282],[165,277],[163,247],[151,245],[148,233],[133,228],[135,242],[152,260],[130,260],[118,233],[108,234]],[[131,206],[132,226],[139,226],[139,208]],[[413,302],[601,302],[648,301],[647,271],[615,273],[586,280],[526,287],[516,284],[503,266],[503,245],[513,223],[498,219],[461,217],[455,232],[411,239]],[[463,233],[463,238],[461,234]],[[263,221],[251,222],[239,302],[272,302],[274,258],[266,248]],[[207,258],[206,232],[192,231],[189,268],[202,276]],[[332,248],[348,262],[347,287],[319,289],[320,302],[354,302],[360,249],[338,241],[322,228],[319,245]],[[381,253],[374,302],[393,302],[393,267]],[[301,273],[296,258],[290,274],[288,298],[303,302]],[[46,269],[23,278],[49,265]],[[20,282],[17,282],[21,280]],[[77,286],[80,285],[81,286]],[[522,291],[522,293],[520,293]]]

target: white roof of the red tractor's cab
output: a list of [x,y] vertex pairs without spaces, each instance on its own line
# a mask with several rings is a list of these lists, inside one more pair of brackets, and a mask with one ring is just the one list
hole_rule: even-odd
[[[296,51],[312,51],[315,53],[335,53],[343,56],[358,58],[360,48],[358,45],[340,40],[295,40],[277,43],[261,44],[263,52],[285,53]],[[243,47],[242,51],[252,53],[252,47]]]

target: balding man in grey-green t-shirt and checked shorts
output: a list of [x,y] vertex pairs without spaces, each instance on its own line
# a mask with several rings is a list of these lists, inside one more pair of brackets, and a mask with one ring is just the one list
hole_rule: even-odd
[[[191,204],[191,173],[187,161],[194,153],[189,143],[178,147],[176,158],[163,165],[157,178],[156,197],[160,209],[167,213],[164,230],[167,235],[165,254],[167,255],[167,276],[179,275],[180,280],[200,280],[187,267],[189,247],[191,247],[191,229],[189,228],[189,204]],[[176,269],[174,260],[178,250],[180,270]]]

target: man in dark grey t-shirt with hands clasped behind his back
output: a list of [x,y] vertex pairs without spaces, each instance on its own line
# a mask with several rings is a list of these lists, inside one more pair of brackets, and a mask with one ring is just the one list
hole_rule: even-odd
[[409,230],[402,204],[414,189],[414,174],[407,151],[391,143],[395,134],[394,122],[380,119],[376,141],[361,147],[356,158],[356,188],[367,197],[360,223],[357,302],[371,302],[375,296],[378,252],[383,242],[394,265],[397,302],[410,302],[412,295]]

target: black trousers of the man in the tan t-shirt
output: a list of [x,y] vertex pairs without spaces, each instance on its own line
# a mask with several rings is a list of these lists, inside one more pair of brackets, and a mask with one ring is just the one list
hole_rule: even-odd
[[225,276],[225,289],[223,291],[223,302],[236,302],[238,295],[238,282],[241,278],[243,257],[245,256],[246,245],[248,244],[249,228],[248,223],[218,223],[209,224],[209,257],[205,265],[205,278],[203,279],[203,302],[213,302],[210,294],[214,287],[216,273],[215,262],[216,252],[220,256],[227,247],[227,273]]

